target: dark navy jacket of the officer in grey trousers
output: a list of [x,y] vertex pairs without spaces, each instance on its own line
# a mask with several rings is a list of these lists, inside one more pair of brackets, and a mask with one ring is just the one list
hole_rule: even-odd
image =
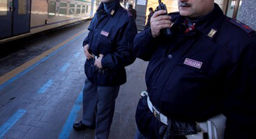
[[123,9],[119,0],[107,11],[103,3],[94,15],[88,36],[83,46],[89,44],[89,52],[95,56],[103,54],[102,67],[98,70],[93,59],[86,60],[84,71],[90,82],[101,86],[116,86],[126,82],[125,66],[134,62],[131,54],[133,39],[137,34],[132,15]]

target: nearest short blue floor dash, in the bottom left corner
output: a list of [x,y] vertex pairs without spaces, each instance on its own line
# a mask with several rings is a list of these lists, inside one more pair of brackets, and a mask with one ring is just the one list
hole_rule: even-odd
[[0,127],[0,139],[3,138],[3,136],[8,132],[10,128],[23,116],[23,114],[26,113],[26,110],[19,109],[15,114],[12,115],[8,121],[6,121],[1,127]]

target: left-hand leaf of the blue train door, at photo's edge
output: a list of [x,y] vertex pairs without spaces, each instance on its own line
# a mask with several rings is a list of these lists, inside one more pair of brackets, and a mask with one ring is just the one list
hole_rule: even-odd
[[12,36],[12,0],[0,0],[0,38]]

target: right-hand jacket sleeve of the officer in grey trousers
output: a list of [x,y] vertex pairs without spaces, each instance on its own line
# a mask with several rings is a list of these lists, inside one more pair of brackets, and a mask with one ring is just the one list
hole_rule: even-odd
[[133,40],[137,34],[137,26],[132,17],[129,17],[125,26],[119,30],[116,39],[116,51],[102,58],[102,67],[117,70],[132,64],[136,56],[132,53]]

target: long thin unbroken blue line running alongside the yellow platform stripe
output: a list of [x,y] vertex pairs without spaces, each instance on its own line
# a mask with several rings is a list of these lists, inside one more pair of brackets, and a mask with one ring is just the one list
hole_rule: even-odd
[[15,77],[12,77],[12,79],[9,79],[8,81],[6,81],[5,83],[3,83],[2,85],[0,85],[0,90],[3,89],[4,87],[6,87],[7,85],[9,85],[10,83],[14,82],[16,79],[22,77],[24,74],[26,74],[27,72],[29,72],[30,70],[32,70],[33,68],[35,68],[37,65],[41,64],[42,62],[44,62],[45,60],[47,60],[49,57],[52,57],[54,54],[58,53],[59,51],[61,51],[63,48],[67,47],[67,45],[69,45],[70,43],[72,43],[73,41],[77,40],[79,37],[81,37],[82,35],[84,35],[86,32],[78,35],[77,37],[75,37],[73,40],[71,40],[70,42],[66,43],[65,45],[61,46],[60,48],[58,48],[56,51],[52,52],[51,54],[48,55],[48,57],[44,57],[42,60],[36,62],[34,65],[30,66],[29,68],[27,68],[25,71],[20,72],[19,74],[17,74]]

